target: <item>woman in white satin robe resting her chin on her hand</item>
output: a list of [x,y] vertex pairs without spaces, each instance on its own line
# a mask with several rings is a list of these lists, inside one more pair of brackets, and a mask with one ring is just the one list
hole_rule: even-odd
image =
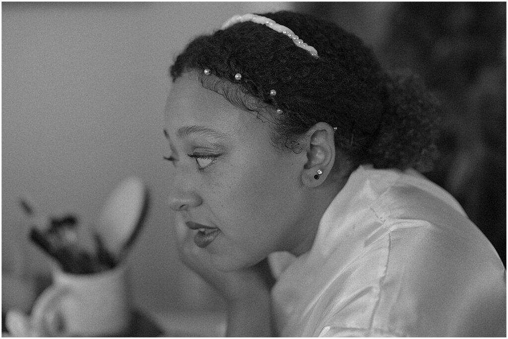
[[499,257],[416,171],[436,105],[413,77],[291,12],[231,18],[171,76],[179,253],[225,298],[228,335],[504,335]]

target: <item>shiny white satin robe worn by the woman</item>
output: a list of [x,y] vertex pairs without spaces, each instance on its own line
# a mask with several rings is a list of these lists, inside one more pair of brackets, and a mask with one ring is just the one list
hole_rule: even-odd
[[360,166],[311,250],[272,253],[281,336],[505,336],[506,271],[454,198],[415,171]]

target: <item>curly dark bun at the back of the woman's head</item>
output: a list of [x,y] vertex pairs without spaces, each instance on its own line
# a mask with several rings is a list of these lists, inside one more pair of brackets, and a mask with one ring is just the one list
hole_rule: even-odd
[[377,168],[432,170],[438,156],[439,104],[423,82],[408,70],[387,74],[386,106],[368,162]]

